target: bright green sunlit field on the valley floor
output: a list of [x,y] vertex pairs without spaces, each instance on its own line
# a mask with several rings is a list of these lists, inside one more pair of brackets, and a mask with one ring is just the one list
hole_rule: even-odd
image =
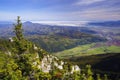
[[105,43],[93,43],[57,52],[54,55],[58,56],[59,58],[66,59],[70,57],[88,56],[104,53],[120,53],[120,46],[105,45]]

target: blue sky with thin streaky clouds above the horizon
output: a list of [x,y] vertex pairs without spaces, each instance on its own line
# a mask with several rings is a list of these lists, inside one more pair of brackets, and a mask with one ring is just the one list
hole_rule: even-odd
[[0,0],[0,21],[120,20],[120,0]]

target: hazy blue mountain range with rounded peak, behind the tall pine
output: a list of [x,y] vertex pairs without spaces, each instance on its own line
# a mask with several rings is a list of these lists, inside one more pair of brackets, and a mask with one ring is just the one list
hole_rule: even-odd
[[[14,25],[12,22],[0,22],[0,34],[2,34],[2,36],[7,36],[10,34],[13,35],[13,26]],[[23,29],[24,29],[25,35],[34,35],[34,34],[47,35],[47,34],[53,34],[53,33],[61,33],[64,31],[66,32],[79,31],[87,34],[96,33],[95,31],[90,30],[87,27],[56,26],[56,25],[32,23],[30,21],[26,21],[23,23]]]

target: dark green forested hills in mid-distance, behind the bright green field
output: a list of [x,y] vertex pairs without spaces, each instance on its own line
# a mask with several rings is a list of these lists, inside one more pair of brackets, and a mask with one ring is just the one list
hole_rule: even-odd
[[[77,34],[77,35],[76,35]],[[28,39],[35,44],[41,46],[48,52],[58,52],[66,49],[74,48],[78,45],[90,44],[93,42],[104,42],[106,39],[88,35],[85,33],[61,33],[54,35],[31,36]]]

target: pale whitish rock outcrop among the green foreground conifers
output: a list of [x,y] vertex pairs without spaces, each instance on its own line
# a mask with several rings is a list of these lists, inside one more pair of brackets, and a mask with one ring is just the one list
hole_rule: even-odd
[[[36,54],[36,59],[39,59],[38,54]],[[67,62],[59,60],[57,57],[50,54],[44,55],[41,61],[39,61],[39,63],[37,62],[33,62],[33,65],[37,66],[38,69],[42,70],[45,73],[49,73],[50,71],[55,69],[64,70],[65,65],[67,65],[68,67]],[[71,67],[71,70],[67,73],[73,74],[74,72],[80,72],[80,68],[78,65],[71,65],[70,67]]]

